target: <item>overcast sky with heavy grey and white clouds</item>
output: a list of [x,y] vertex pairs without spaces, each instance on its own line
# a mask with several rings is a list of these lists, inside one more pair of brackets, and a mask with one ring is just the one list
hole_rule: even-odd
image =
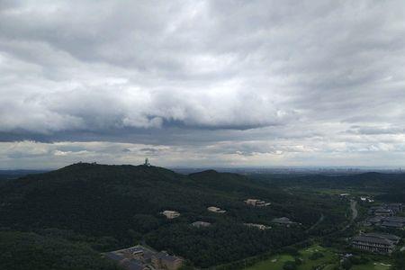
[[405,1],[0,0],[0,168],[405,166]]

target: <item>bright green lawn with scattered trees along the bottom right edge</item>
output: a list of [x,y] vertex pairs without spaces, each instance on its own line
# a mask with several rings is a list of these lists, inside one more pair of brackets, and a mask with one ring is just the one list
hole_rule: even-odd
[[[321,252],[324,257],[317,260],[311,260],[311,254]],[[297,270],[312,270],[313,266],[324,266],[323,270],[333,270],[338,266],[338,254],[330,248],[314,245],[311,247],[302,248],[299,258],[302,259],[302,265],[297,267]],[[283,270],[286,261],[293,261],[294,257],[290,255],[275,255],[269,259],[259,262],[254,266],[246,268],[246,270]],[[370,262],[362,266],[353,266],[351,270],[389,270],[389,265],[384,265],[380,262]]]

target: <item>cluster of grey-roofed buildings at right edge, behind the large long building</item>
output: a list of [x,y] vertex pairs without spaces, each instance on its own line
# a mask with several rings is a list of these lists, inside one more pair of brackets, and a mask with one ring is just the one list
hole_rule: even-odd
[[405,229],[405,217],[396,216],[401,211],[403,211],[402,203],[388,203],[371,207],[368,211],[371,216],[365,220],[365,226]]

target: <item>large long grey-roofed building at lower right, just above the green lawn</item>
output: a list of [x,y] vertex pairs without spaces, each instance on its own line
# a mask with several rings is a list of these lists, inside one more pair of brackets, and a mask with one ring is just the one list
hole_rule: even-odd
[[401,238],[392,234],[366,233],[352,239],[352,247],[368,252],[391,254]]

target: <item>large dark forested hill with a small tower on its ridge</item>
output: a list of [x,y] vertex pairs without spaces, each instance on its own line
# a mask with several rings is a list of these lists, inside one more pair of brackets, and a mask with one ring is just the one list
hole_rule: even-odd
[[[272,204],[252,208],[243,202],[247,198]],[[211,213],[208,206],[227,212]],[[181,216],[166,220],[160,214],[164,210],[179,211]],[[146,241],[196,266],[228,263],[302,241],[308,237],[305,229],[322,213],[326,216],[323,227],[313,233],[321,234],[345,220],[336,202],[300,197],[266,181],[215,171],[180,175],[157,166],[79,163],[0,185],[0,230],[39,235],[33,238],[63,238],[74,242],[69,247],[79,242],[96,251]],[[272,225],[271,220],[284,216],[302,225],[266,231],[243,225]],[[196,220],[212,226],[194,229],[190,224]]]

